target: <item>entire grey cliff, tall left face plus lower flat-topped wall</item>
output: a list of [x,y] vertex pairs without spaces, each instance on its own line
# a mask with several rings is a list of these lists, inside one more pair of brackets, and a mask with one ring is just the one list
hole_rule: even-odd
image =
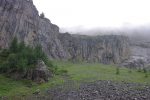
[[14,36],[31,46],[41,44],[54,59],[119,63],[129,56],[127,37],[60,34],[58,26],[39,16],[32,0],[0,0],[0,48]]

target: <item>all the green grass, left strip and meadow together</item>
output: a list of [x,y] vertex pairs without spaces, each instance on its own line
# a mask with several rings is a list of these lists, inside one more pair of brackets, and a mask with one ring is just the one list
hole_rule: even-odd
[[[67,70],[70,79],[76,83],[93,82],[96,80],[112,80],[118,82],[124,81],[150,84],[150,72],[148,72],[148,77],[146,78],[145,73],[138,72],[137,70],[129,72],[129,69],[126,68],[120,68],[120,73],[117,75],[115,65],[71,63],[62,61],[54,61],[53,63],[58,66],[58,70]],[[64,82],[65,79],[62,75],[56,75],[48,83],[41,85],[27,80],[15,81],[0,75],[0,96],[25,96],[34,93],[37,89],[44,92],[47,89],[61,85]]]

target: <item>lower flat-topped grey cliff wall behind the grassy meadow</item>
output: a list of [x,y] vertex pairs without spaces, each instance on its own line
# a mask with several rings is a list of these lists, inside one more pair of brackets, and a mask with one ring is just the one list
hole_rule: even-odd
[[60,34],[59,39],[71,60],[119,63],[130,54],[128,38],[117,35],[80,36]]

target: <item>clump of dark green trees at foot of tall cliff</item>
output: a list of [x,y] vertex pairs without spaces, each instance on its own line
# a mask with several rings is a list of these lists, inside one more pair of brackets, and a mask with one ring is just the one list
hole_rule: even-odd
[[17,38],[14,38],[10,47],[0,52],[0,72],[27,71],[34,68],[38,60],[52,67],[40,45],[33,48],[26,46],[24,42],[18,43]]

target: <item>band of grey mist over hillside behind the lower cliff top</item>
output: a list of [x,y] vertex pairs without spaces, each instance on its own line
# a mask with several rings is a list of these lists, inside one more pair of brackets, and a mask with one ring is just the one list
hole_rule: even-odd
[[150,41],[150,25],[141,27],[124,27],[124,28],[93,28],[84,29],[82,27],[60,29],[60,32],[69,32],[80,35],[125,35],[135,41]]

